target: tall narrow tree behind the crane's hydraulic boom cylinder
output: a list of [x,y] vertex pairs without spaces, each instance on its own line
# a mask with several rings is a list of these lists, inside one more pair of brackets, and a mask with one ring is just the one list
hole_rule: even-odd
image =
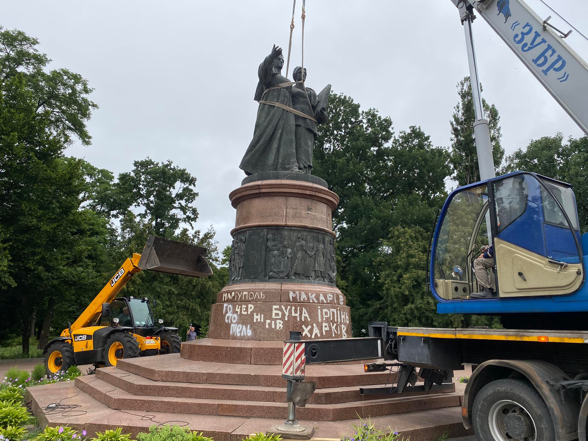
[[[481,84],[480,90],[482,90]],[[453,118],[450,121],[452,133],[450,161],[455,170],[454,179],[462,186],[480,181],[473,126],[476,115],[472,98],[472,83],[469,76],[457,83],[457,95],[459,95],[459,102],[454,108]],[[494,167],[499,170],[505,156],[505,149],[500,145],[500,138],[502,138],[499,125],[500,115],[496,106],[489,105],[483,98],[482,107],[490,129]]]

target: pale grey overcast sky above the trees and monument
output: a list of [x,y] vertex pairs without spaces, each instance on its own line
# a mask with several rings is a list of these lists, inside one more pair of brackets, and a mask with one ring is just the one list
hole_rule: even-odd
[[[588,35],[588,2],[547,2]],[[301,4],[290,72],[300,65]],[[539,0],[527,4],[554,16]],[[1,11],[0,25],[35,36],[52,67],[78,72],[95,88],[92,145],[76,144],[68,155],[115,175],[146,156],[171,159],[198,178],[197,227],[214,225],[220,249],[228,245],[235,224],[228,194],[245,177],[238,166],[258,108],[257,68],[272,44],[286,52],[292,1],[3,0]],[[569,30],[557,16],[550,22]],[[556,132],[583,135],[481,18],[474,38],[506,153]],[[566,42],[588,59],[577,32]],[[469,72],[450,0],[308,0],[304,49],[309,87],[331,83],[390,115],[396,132],[420,125],[434,145],[450,145],[456,83]]]

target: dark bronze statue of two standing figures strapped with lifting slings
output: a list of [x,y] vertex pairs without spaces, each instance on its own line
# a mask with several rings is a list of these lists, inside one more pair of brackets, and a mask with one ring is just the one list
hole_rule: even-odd
[[294,69],[295,81],[299,83],[293,83],[282,76],[283,65],[282,49],[276,45],[259,65],[255,129],[239,165],[246,175],[312,171],[316,125],[326,121],[330,85],[317,95],[313,89],[305,88],[301,68]]

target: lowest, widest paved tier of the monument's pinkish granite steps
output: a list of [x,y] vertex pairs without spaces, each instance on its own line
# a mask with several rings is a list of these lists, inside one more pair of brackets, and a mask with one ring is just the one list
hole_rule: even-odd
[[[283,422],[283,418],[232,417],[216,415],[189,415],[171,412],[140,412],[116,410],[99,403],[91,396],[81,392],[74,382],[27,388],[26,401],[31,402],[39,425],[71,426],[76,430],[85,429],[89,433],[103,432],[113,427],[122,427],[123,433],[136,437],[139,432],[148,432],[153,424],[168,423],[186,426],[191,430],[203,432],[215,441],[240,441],[255,432],[265,432],[271,426]],[[76,406],[74,410],[48,412],[44,410],[49,403],[62,402]],[[390,428],[402,433],[411,441],[431,441],[445,433],[449,436],[470,435],[471,430],[463,427],[460,407],[420,410],[396,415],[374,416],[372,423],[380,429]],[[360,424],[355,416],[350,420],[321,422],[316,419],[303,420],[304,426],[315,426],[314,439],[340,439],[342,435],[353,435],[351,424]]]

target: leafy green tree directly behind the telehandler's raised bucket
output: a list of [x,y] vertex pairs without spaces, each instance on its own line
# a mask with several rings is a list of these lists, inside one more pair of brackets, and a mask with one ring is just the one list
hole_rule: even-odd
[[[119,206],[119,243],[112,258],[112,273],[133,252],[141,252],[151,235],[204,246],[213,270],[209,278],[189,278],[145,271],[135,276],[121,292],[124,296],[157,300],[155,314],[168,326],[185,329],[189,323],[208,325],[216,293],[229,279],[228,268],[220,266],[215,230],[193,229],[198,219],[194,205],[196,178],[171,161],[147,158],[135,161],[132,172],[121,173],[112,187]],[[126,207],[125,207],[126,205]]]

